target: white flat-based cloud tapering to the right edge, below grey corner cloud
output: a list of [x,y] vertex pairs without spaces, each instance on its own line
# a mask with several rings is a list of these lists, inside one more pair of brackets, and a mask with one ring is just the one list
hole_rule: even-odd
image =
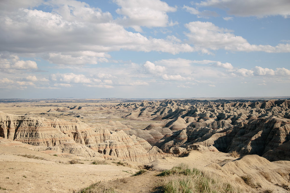
[[290,52],[290,44],[251,45],[242,36],[236,36],[231,30],[220,28],[211,22],[193,21],[185,24],[190,31],[185,33],[190,43],[198,50],[225,49],[231,51],[263,51],[269,53]]

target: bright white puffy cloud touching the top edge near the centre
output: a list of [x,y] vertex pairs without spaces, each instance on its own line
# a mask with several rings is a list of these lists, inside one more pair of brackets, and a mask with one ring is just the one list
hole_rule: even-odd
[[176,8],[170,7],[160,0],[114,0],[121,8],[116,12],[125,17],[120,19],[123,25],[131,26],[136,31],[142,31],[140,26],[165,27],[174,25],[168,21],[167,12],[175,12]]

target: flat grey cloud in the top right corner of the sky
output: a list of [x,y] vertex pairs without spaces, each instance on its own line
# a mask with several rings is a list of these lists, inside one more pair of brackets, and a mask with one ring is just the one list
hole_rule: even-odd
[[290,16],[289,0],[207,0],[196,5],[225,9],[228,14],[235,16]]

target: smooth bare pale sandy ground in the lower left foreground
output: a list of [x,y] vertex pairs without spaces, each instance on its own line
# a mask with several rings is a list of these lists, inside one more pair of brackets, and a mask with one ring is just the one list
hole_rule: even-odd
[[[55,156],[20,147],[1,147],[0,152],[0,192],[77,192],[93,183],[129,177],[130,173],[138,171],[110,164],[90,165],[91,161],[84,161],[85,164],[57,163]],[[13,155],[19,152],[52,161]]]

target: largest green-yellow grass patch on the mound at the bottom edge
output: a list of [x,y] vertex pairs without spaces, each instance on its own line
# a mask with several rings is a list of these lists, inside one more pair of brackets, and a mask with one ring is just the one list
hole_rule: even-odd
[[223,183],[218,178],[191,169],[185,164],[166,170],[158,176],[167,177],[162,185],[163,192],[236,192],[229,183]]

